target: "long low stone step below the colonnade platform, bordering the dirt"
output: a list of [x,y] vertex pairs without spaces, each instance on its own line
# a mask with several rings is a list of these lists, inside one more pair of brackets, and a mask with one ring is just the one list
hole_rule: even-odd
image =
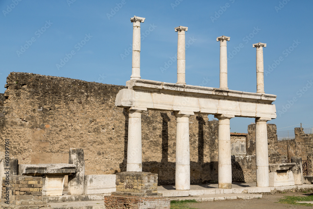
[[172,200],[196,200],[199,202],[203,201],[218,201],[218,200],[234,200],[243,199],[249,200],[253,198],[262,198],[262,194],[221,194],[221,195],[199,195],[199,196],[188,196],[188,197],[169,197]]

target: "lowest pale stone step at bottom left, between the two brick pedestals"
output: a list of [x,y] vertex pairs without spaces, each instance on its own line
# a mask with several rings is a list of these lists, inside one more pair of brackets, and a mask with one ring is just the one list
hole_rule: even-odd
[[105,209],[103,200],[49,203],[54,209]]

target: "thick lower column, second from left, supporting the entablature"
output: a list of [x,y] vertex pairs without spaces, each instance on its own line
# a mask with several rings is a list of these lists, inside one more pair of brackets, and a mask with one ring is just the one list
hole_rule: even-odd
[[193,112],[172,112],[176,117],[176,190],[190,190],[189,117]]

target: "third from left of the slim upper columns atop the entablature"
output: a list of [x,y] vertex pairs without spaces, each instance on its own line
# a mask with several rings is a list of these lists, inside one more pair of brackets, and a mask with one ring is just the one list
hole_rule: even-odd
[[227,41],[228,36],[220,36],[216,38],[219,41],[219,88],[228,89],[227,87]]

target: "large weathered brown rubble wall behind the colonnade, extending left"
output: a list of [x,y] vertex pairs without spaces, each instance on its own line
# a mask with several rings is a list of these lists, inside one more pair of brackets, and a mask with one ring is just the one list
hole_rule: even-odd
[[[126,171],[128,114],[114,106],[125,86],[13,72],[6,87],[1,143],[10,140],[10,156],[19,164],[68,163],[69,148],[82,148],[86,175]],[[217,136],[217,120],[190,117],[192,183],[218,180]],[[145,111],[143,171],[157,173],[161,184],[173,184],[175,146],[175,117]]]

